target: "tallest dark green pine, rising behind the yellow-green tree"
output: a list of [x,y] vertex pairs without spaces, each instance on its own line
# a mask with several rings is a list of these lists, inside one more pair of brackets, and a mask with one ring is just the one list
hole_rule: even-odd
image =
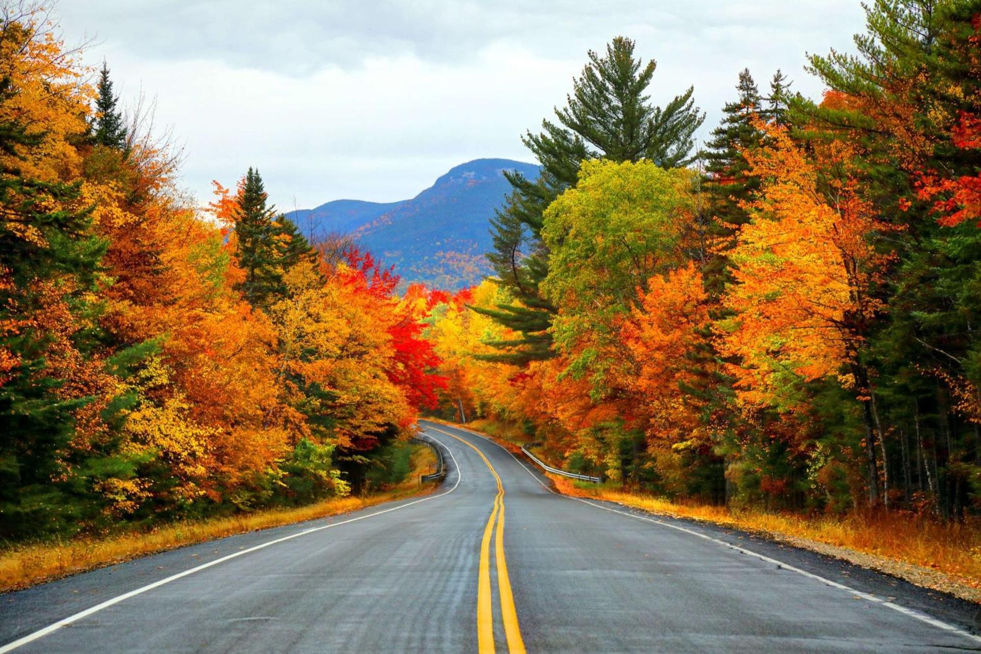
[[500,354],[487,356],[524,364],[551,355],[548,327],[555,307],[539,292],[548,274],[542,245],[542,215],[559,193],[576,185],[584,159],[649,159],[665,168],[685,166],[694,158],[694,135],[704,120],[688,88],[664,107],[650,104],[647,87],[655,62],[634,56],[635,43],[617,36],[573,82],[566,106],[555,110],[558,124],[542,121],[542,132],[522,137],[542,166],[536,181],[506,173],[513,192],[491,221],[494,251],[488,254],[500,283],[515,303],[474,309],[521,336],[493,343]]

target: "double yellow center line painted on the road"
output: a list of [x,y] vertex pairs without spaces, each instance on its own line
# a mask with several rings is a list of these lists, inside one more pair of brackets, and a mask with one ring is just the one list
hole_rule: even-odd
[[[440,434],[455,438],[472,448],[487,463],[490,474],[497,482],[497,495],[494,496],[493,509],[481,540],[481,563],[477,576],[477,647],[481,654],[492,654],[494,651],[493,603],[490,599],[490,537],[493,535],[494,560],[497,562],[497,596],[500,598],[500,617],[507,636],[507,649],[511,654],[524,654],[525,642],[521,638],[521,628],[518,627],[518,612],[514,609],[511,579],[507,575],[507,560],[504,558],[504,486],[500,483],[500,476],[484,453],[473,443],[437,427],[428,426],[427,429],[439,431]],[[494,520],[497,522],[496,531]]]

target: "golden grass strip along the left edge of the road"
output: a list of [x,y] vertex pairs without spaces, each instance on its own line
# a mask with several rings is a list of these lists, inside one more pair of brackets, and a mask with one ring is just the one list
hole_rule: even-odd
[[0,550],[0,592],[18,590],[69,574],[112,566],[137,557],[172,550],[246,531],[268,529],[293,522],[327,518],[393,500],[428,495],[436,486],[419,483],[419,475],[436,464],[433,453],[417,447],[413,471],[405,481],[366,497],[325,500],[305,507],[272,509],[229,518],[212,518],[161,525],[151,531],[117,534],[106,538],[76,538],[63,542],[17,545]]

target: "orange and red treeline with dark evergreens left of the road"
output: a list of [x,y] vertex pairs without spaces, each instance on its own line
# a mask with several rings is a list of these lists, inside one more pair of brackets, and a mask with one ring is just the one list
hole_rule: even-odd
[[46,15],[0,26],[0,538],[345,495],[404,475],[432,304],[314,245],[259,173],[211,214]]

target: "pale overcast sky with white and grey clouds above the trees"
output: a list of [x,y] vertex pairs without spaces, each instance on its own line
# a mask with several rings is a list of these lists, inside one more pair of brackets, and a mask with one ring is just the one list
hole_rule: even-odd
[[[282,209],[411,197],[478,157],[531,160],[519,136],[564,101],[616,34],[657,61],[658,103],[695,85],[718,122],[736,76],[782,68],[817,97],[805,53],[850,50],[858,0],[61,0],[124,103],[142,91],[185,147],[201,201],[256,166]],[[704,136],[703,134],[703,136]]]

